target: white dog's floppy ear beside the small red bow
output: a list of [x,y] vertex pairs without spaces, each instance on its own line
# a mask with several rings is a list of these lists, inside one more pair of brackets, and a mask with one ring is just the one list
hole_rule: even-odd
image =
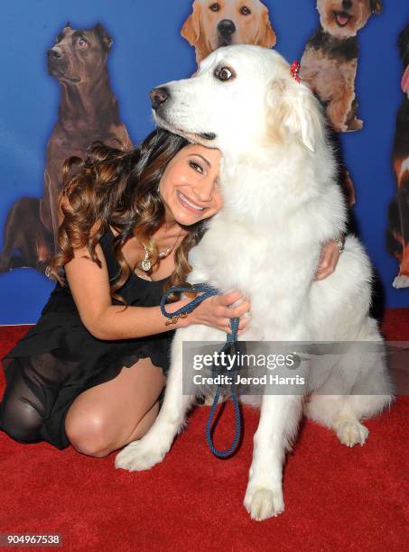
[[311,151],[323,138],[323,122],[318,100],[302,82],[274,79],[267,90],[267,133],[278,142],[296,137]]

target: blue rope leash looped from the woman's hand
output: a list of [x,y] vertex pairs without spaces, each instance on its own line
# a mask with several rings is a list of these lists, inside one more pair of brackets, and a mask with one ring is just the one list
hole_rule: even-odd
[[[192,299],[190,303],[185,305],[184,307],[179,308],[175,312],[169,313],[166,312],[164,306],[166,299],[171,295],[171,293],[175,292],[201,292],[203,291],[203,295],[200,295],[196,297],[195,299]],[[169,290],[166,290],[165,293],[163,293],[163,297],[161,300],[161,311],[163,316],[172,318],[177,317],[178,315],[185,315],[189,314],[192,310],[194,310],[201,301],[204,301],[205,299],[208,299],[209,297],[212,297],[213,295],[218,295],[218,290],[216,288],[212,288],[211,286],[204,284],[204,283],[198,283],[194,284],[191,288],[181,288],[181,287],[174,287],[170,288]],[[231,327],[231,334],[227,334],[226,339],[226,345],[231,344],[235,347],[235,351],[237,351],[237,328],[238,328],[238,318],[230,318],[230,327]],[[236,357],[237,358],[237,357]],[[214,366],[212,367],[212,371],[214,373]],[[231,392],[233,396],[233,405],[235,409],[235,421],[236,421],[236,430],[235,435],[233,437],[233,441],[230,446],[226,450],[218,450],[216,446],[213,445],[213,440],[211,437],[211,426],[213,424],[213,418],[216,412],[216,408],[218,406],[218,399],[220,396],[220,386],[217,386],[216,395],[213,400],[213,404],[211,405],[211,409],[209,412],[209,419],[208,423],[206,424],[206,439],[208,441],[209,449],[211,452],[218,456],[219,458],[226,458],[228,455],[231,455],[231,453],[235,450],[237,447],[238,439],[240,438],[241,433],[241,420],[240,420],[240,409],[238,406],[238,399],[237,399],[237,389],[236,384],[234,383],[234,380],[232,379],[231,383]]]

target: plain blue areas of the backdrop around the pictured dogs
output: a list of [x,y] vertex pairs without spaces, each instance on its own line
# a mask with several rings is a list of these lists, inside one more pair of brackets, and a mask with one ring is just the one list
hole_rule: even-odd
[[[315,0],[265,0],[277,34],[275,48],[288,60],[301,59],[318,24]],[[148,91],[196,69],[193,48],[181,38],[191,0],[14,0],[2,5],[0,33],[0,228],[15,199],[42,197],[45,148],[57,120],[60,88],[46,67],[46,51],[61,28],[102,23],[114,39],[108,58],[111,84],[131,139],[153,128]],[[395,290],[397,262],[386,252],[387,206],[395,192],[390,154],[395,114],[402,101],[401,60],[396,38],[409,20],[409,4],[385,0],[358,34],[357,133],[340,140],[355,184],[353,207],[359,235],[386,291],[386,307],[409,306],[409,289]],[[55,282],[33,269],[0,274],[0,324],[33,323]]]

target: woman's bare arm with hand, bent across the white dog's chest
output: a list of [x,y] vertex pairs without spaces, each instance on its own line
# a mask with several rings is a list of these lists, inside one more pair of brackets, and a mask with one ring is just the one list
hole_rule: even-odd
[[[216,296],[203,301],[188,317],[179,318],[176,324],[165,326],[167,320],[163,317],[160,307],[128,307],[112,305],[109,294],[109,277],[107,262],[99,244],[95,253],[101,262],[101,268],[96,262],[84,258],[88,250],[75,248],[74,257],[65,264],[67,281],[75,304],[79,310],[79,317],[87,327],[88,332],[98,339],[132,339],[135,337],[153,336],[178,327],[190,324],[207,324],[227,331],[229,317],[242,317],[248,310],[249,304],[243,301],[236,308],[228,306],[243,299],[238,291],[223,296]],[[191,299],[181,299],[167,307],[173,312],[186,305]],[[240,320],[239,328],[246,327],[247,320]],[[240,332],[241,333],[241,332]]]

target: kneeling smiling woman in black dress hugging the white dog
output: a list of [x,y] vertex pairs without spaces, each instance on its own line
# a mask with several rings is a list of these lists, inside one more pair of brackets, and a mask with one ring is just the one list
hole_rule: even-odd
[[[60,197],[57,280],[37,324],[5,355],[0,428],[22,443],[70,444],[106,456],[151,427],[169,369],[173,331],[206,324],[246,331],[250,305],[237,290],[203,301],[165,325],[163,290],[184,283],[189,250],[222,205],[221,153],[153,131],[134,152],[88,151]],[[323,248],[317,278],[339,249]],[[66,285],[68,284],[68,285]],[[176,310],[190,299],[172,298]],[[238,301],[238,305],[231,305]]]

